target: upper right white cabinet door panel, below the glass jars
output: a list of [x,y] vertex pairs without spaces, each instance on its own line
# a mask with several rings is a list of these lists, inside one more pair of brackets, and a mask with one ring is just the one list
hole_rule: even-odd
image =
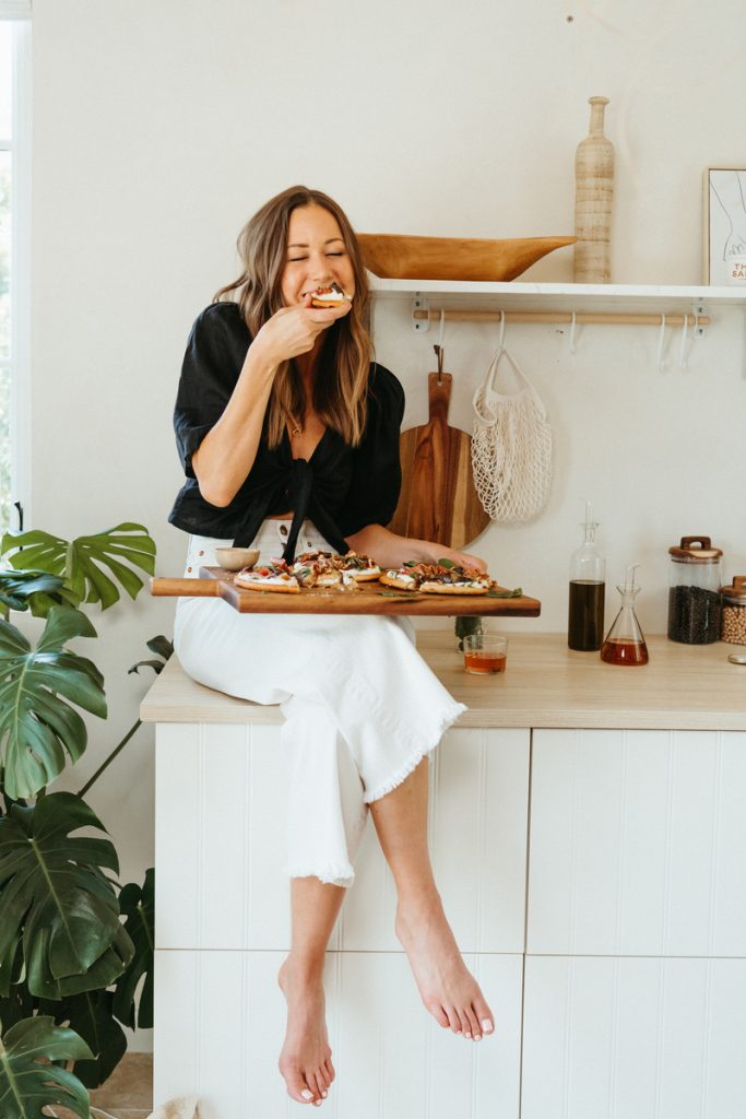
[[537,731],[530,952],[746,956],[746,734]]

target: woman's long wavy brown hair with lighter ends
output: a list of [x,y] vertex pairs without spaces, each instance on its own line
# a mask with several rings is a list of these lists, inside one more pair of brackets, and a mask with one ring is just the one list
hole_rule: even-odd
[[[237,247],[244,269],[220,288],[214,302],[230,299],[238,303],[248,332],[255,338],[267,319],[284,304],[282,274],[287,258],[290,216],[299,206],[321,206],[337,219],[355,274],[352,308],[324,333],[319,375],[313,388],[313,407],[323,423],[346,443],[357,446],[367,419],[367,388],[372,341],[368,331],[370,290],[360,246],[344,211],[321,190],[289,187],[275,195],[249,218],[238,234]],[[293,361],[284,361],[275,375],[265,416],[268,445],[277,446],[287,423],[305,413],[303,385]]]

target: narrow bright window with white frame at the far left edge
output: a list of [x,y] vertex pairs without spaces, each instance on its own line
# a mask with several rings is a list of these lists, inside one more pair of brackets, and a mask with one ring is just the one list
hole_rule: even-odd
[[[0,18],[2,6],[0,4]],[[31,21],[12,20],[13,74],[11,135],[0,137],[12,166],[10,251],[10,486],[9,527],[26,527],[31,513]]]

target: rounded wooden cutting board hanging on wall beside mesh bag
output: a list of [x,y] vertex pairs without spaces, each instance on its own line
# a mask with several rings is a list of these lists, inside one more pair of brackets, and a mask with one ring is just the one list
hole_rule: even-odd
[[389,529],[461,551],[490,524],[474,489],[471,435],[448,426],[452,376],[427,377],[429,419],[399,436],[402,495]]

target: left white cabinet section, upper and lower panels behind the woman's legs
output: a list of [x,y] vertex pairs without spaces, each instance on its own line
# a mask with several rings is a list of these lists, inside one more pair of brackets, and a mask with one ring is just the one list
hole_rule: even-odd
[[[529,737],[453,730],[432,761],[436,878],[495,1010],[495,1035],[468,1043],[423,1007],[394,935],[393,880],[369,822],[327,958],[338,1070],[330,1117],[518,1119]],[[285,799],[278,717],[158,726],[154,1098],[192,1092],[204,1119],[296,1108],[277,1072]]]

